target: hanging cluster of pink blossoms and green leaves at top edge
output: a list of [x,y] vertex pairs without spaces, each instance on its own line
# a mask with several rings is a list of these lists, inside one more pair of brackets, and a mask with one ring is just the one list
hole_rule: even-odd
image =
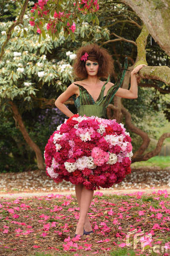
[[43,38],[46,38],[43,25],[47,24],[46,28],[53,40],[59,37],[62,27],[65,38],[70,34],[72,40],[75,40],[75,22],[78,19],[88,19],[99,24],[98,17],[94,15],[98,9],[98,0],[81,0],[76,3],[65,0],[62,4],[55,3],[54,0],[38,0],[30,10],[33,15],[29,23],[34,26],[34,32],[42,34]]

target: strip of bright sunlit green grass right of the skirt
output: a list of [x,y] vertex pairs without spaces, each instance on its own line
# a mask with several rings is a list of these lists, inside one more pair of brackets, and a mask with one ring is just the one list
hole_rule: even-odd
[[158,166],[161,169],[170,167],[170,156],[156,156],[148,159],[147,161],[141,161],[141,162],[135,162],[131,165],[132,167],[143,167],[143,166],[148,166],[148,167],[153,167],[153,166]]

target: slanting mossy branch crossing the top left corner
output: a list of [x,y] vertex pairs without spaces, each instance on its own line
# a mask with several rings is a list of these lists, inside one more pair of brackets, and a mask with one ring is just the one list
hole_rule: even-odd
[[12,30],[13,30],[14,27],[16,27],[17,25],[23,24],[23,15],[24,15],[24,13],[25,13],[25,11],[26,11],[28,2],[29,2],[29,0],[24,0],[23,6],[21,7],[20,14],[19,14],[19,17],[18,17],[17,21],[14,22],[14,23],[6,30],[6,39],[5,39],[5,41],[3,42],[2,47],[1,47],[1,51],[0,51],[0,61],[2,60],[3,55],[4,55],[4,53],[5,53],[6,44],[9,42],[9,40],[10,40],[10,38],[11,38]]

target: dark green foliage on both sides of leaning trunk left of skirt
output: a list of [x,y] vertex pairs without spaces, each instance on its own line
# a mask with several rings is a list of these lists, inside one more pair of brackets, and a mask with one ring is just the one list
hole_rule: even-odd
[[[28,146],[20,130],[14,126],[11,113],[0,121],[0,172],[22,172],[37,168],[34,151]],[[56,108],[23,112],[23,122],[32,140],[42,153],[52,134],[66,116]]]

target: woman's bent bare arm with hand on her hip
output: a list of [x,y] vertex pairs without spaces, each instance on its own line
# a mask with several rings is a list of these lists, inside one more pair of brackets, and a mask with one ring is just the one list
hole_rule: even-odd
[[63,103],[73,94],[78,94],[78,86],[74,83],[70,84],[65,92],[61,93],[61,95],[55,101],[55,106],[68,117],[74,116],[74,114]]

